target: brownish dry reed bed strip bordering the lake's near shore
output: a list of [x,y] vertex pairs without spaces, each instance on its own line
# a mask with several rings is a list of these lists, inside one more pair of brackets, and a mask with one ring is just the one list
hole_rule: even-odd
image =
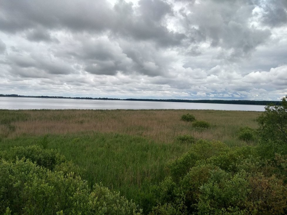
[[[6,112],[6,113],[5,113]],[[192,123],[180,120],[186,113],[211,124],[208,129],[196,129]],[[67,134],[96,131],[142,136],[157,142],[172,143],[180,134],[196,139],[220,140],[230,146],[241,145],[236,140],[240,127],[257,127],[255,111],[220,110],[1,110],[0,115],[12,119],[0,125],[0,135],[9,138],[21,134]],[[14,116],[13,116],[14,115]]]

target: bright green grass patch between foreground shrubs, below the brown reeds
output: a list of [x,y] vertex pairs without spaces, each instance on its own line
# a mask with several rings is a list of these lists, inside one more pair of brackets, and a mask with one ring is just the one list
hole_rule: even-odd
[[96,132],[23,135],[2,139],[0,144],[2,150],[34,144],[58,149],[83,169],[83,178],[91,186],[102,182],[130,199],[142,185],[161,181],[167,173],[166,163],[189,148],[189,144],[158,144],[140,136]]

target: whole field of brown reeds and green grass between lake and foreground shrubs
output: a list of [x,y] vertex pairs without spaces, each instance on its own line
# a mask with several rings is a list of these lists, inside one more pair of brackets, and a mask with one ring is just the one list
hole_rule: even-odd
[[[190,113],[211,126],[194,128],[180,120]],[[237,138],[240,127],[257,128],[260,112],[215,110],[0,110],[0,149],[42,145],[58,149],[83,170],[92,186],[102,182],[128,199],[139,188],[160,182],[168,161],[195,139],[220,140],[229,146],[254,145]]]

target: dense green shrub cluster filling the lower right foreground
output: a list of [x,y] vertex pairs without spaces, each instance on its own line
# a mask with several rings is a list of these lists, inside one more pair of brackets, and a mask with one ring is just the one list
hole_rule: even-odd
[[284,214],[287,156],[274,162],[256,147],[199,140],[169,163],[170,176],[150,191],[149,214]]

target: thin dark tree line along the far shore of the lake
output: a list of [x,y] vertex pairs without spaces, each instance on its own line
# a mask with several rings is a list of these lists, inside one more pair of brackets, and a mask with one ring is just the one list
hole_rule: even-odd
[[26,97],[26,98],[66,98],[66,99],[94,99],[94,100],[126,100],[126,101],[153,101],[153,102],[186,102],[186,103],[212,103],[235,105],[281,105],[281,101],[253,101],[253,100],[187,100],[187,99],[137,99],[137,98],[91,98],[91,97],[64,97],[64,96],[27,96],[17,94],[0,94],[0,97]]

